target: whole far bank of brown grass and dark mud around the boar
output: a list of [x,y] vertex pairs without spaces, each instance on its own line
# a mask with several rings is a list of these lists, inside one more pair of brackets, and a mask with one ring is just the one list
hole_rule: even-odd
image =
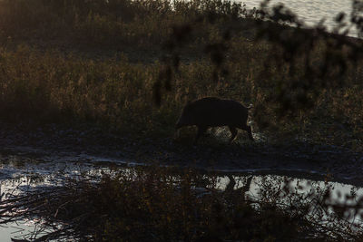
[[[48,158],[85,153],[201,169],[330,174],[360,184],[363,73],[359,56],[349,62],[348,49],[359,46],[358,39],[263,22],[258,12],[224,2],[176,3],[175,8],[159,1],[32,3],[1,3],[2,11],[19,14],[4,14],[0,21],[5,26],[0,52],[5,153],[29,147]],[[35,17],[39,11],[47,24]],[[281,68],[278,59],[288,53],[265,31],[269,28],[291,39],[315,36],[319,41],[309,49],[313,64],[308,67],[323,65],[334,53],[347,62],[343,76],[329,71],[324,78],[331,82],[312,82],[303,72],[303,58],[294,59],[299,70],[294,74],[289,62]],[[302,44],[296,51],[306,52],[304,42],[295,40]],[[345,47],[330,51],[329,43]],[[323,69],[337,66],[328,67]],[[171,70],[171,80],[165,70]],[[213,129],[193,147],[192,128],[174,140],[183,105],[204,96],[252,103],[257,142],[240,131],[227,145],[228,132]]]

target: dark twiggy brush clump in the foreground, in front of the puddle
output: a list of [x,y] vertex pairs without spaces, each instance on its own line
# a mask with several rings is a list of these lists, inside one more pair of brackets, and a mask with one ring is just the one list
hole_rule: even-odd
[[[218,176],[205,176],[191,169],[177,173],[158,167],[114,170],[113,175],[103,174],[97,182],[71,179],[64,187],[49,187],[4,199],[0,213],[6,219],[5,209],[10,206],[14,208],[10,219],[35,216],[44,218],[44,226],[55,223],[61,230],[53,234],[54,239],[89,236],[107,241],[362,238],[356,230],[347,230],[354,225],[337,219],[338,209],[331,217],[335,222],[329,227],[321,226],[319,219],[324,217],[320,214],[324,214],[324,204],[328,201],[324,187],[310,194],[309,198],[318,199],[311,202],[294,187],[286,185],[289,180],[285,180],[285,186],[280,186],[281,179],[260,180],[260,198],[250,199],[245,196],[250,189],[249,177],[237,180],[235,189],[228,183],[222,191],[214,189],[221,181]],[[318,209],[319,216],[309,216],[311,209]]]

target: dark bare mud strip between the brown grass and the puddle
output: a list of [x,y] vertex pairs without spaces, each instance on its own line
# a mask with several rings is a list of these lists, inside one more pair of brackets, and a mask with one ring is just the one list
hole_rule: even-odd
[[[2,125],[0,160],[56,164],[93,163],[98,166],[158,164],[208,172],[277,174],[325,179],[363,186],[363,153],[336,146],[295,141],[279,147],[267,142],[198,146],[178,140],[132,140],[97,129],[64,130],[56,126],[33,131]],[[244,137],[240,137],[242,140]],[[205,139],[208,140],[208,139]],[[20,161],[21,162],[21,161]]]

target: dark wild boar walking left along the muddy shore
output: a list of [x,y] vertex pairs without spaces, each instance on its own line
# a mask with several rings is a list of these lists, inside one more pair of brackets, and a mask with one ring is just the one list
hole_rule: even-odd
[[196,125],[198,133],[194,143],[210,127],[228,126],[231,131],[231,140],[237,135],[237,129],[248,131],[250,140],[253,140],[250,126],[247,125],[249,108],[240,102],[223,100],[215,97],[202,98],[188,103],[182,110],[182,115],[176,123],[176,129],[183,126]]

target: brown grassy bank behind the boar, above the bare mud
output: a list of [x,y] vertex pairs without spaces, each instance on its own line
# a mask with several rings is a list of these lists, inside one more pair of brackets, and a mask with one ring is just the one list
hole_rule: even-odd
[[[298,58],[300,68],[293,76],[289,64],[281,68],[271,53],[282,50],[267,40],[254,40],[258,22],[241,5],[125,0],[16,0],[0,5],[2,121],[87,122],[135,138],[166,137],[184,103],[220,96],[253,103],[253,131],[269,140],[300,137],[353,150],[363,147],[360,59],[357,65],[348,64],[340,77],[343,85],[308,90],[313,100],[309,108],[299,108],[298,102],[296,110],[281,116],[284,103],[276,96],[306,79],[304,58]],[[191,34],[184,29],[184,37],[181,26],[200,16],[205,17],[192,22]],[[227,26],[233,30],[228,37]],[[172,39],[175,34],[180,38]],[[221,66],[213,50],[206,49],[216,43],[227,47]],[[326,49],[324,42],[314,45],[309,61],[319,65]],[[171,56],[180,62],[159,107],[153,86],[168,66],[163,58]],[[168,89],[166,82],[162,85]],[[284,101],[286,96],[299,98],[299,92],[285,93]]]

